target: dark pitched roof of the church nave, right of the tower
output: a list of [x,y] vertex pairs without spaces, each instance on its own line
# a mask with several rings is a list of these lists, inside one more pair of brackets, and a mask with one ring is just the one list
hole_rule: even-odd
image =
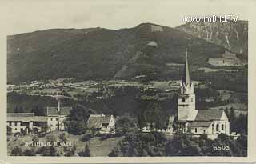
[[198,110],[194,121],[221,120],[224,110]]

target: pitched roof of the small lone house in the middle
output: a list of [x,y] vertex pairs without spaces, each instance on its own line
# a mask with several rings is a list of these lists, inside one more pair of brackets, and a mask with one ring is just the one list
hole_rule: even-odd
[[108,124],[110,122],[111,115],[104,114],[90,114],[87,121],[88,128],[101,128],[102,124]]

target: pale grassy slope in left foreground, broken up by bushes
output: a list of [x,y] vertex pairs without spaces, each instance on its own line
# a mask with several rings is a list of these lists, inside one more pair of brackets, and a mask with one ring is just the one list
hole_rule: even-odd
[[[80,141],[80,138],[82,135],[72,135],[68,134],[67,132],[54,132],[52,133],[56,138],[58,139],[59,134],[66,134],[66,138],[69,142],[72,144],[75,144],[77,150],[76,152],[81,152],[85,149],[86,144],[88,144],[90,148],[90,154],[91,156],[108,156],[110,151],[114,148],[114,146],[117,145],[119,141],[122,140],[123,137],[116,137],[116,138],[108,138],[106,140],[101,141],[99,137],[94,137],[90,139],[90,142],[82,142]],[[11,154],[11,150],[15,146],[19,146],[22,148],[22,151],[26,149],[35,149],[38,150],[38,147],[27,147],[25,146],[25,142],[31,142],[32,136],[31,135],[25,135],[20,137],[14,137],[14,136],[8,136],[9,140],[7,141],[7,154]],[[46,142],[46,137],[39,138],[40,142]],[[71,147],[71,146],[70,146]],[[57,150],[62,152],[64,150],[63,146],[58,146]]]

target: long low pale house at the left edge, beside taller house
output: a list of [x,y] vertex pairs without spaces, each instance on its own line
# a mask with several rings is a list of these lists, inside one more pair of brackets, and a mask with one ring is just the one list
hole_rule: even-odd
[[34,116],[34,113],[7,113],[7,132],[15,133],[37,133],[47,129],[47,118],[45,116]]

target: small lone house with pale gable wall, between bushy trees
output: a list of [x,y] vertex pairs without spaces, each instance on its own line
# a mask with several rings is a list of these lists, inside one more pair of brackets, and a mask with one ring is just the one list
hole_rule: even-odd
[[101,134],[114,133],[115,119],[113,115],[90,114],[87,120],[87,127],[94,129]]

